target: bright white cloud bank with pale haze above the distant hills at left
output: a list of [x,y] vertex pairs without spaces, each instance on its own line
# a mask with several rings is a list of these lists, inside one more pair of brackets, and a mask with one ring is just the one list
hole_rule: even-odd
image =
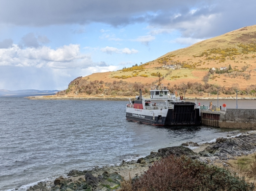
[[104,61],[94,62],[80,52],[79,44],[56,49],[47,46],[21,48],[13,44],[0,49],[0,89],[67,88],[71,80],[93,72],[118,69]]

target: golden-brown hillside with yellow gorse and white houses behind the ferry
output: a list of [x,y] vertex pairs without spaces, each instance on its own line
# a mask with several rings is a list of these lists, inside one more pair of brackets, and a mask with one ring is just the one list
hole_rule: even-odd
[[253,96],[256,92],[256,25],[166,53],[138,66],[78,78],[58,95],[127,96],[137,94],[138,88],[147,94],[158,80],[158,72],[163,78],[161,83],[171,91],[186,89],[188,94],[209,96],[216,94],[220,87],[222,94],[233,95],[239,90],[240,95]]

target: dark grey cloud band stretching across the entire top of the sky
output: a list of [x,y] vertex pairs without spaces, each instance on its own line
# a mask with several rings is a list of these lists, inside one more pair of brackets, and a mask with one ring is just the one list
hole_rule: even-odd
[[[146,22],[208,38],[256,24],[254,0],[0,0],[0,23],[19,26]],[[196,10],[191,14],[192,10]],[[36,44],[34,44],[36,46]]]

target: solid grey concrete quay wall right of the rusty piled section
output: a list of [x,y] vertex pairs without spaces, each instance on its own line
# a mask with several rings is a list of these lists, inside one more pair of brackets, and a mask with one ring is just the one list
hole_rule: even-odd
[[219,127],[256,130],[256,109],[227,109],[220,114]]

